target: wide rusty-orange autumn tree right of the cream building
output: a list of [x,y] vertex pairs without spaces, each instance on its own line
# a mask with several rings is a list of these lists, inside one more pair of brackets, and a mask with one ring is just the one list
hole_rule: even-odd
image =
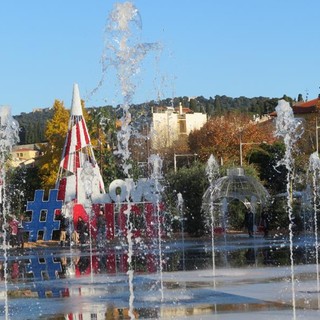
[[213,154],[224,164],[239,164],[240,141],[245,159],[250,149],[257,147],[257,144],[273,143],[273,131],[271,120],[258,122],[253,121],[249,114],[229,112],[212,117],[201,129],[191,132],[189,147],[202,161]]

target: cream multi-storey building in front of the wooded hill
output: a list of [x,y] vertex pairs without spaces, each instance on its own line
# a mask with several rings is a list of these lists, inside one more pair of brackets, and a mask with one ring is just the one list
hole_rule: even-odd
[[152,110],[153,149],[170,147],[181,135],[189,135],[195,129],[200,129],[207,122],[207,115],[183,108],[157,107]]

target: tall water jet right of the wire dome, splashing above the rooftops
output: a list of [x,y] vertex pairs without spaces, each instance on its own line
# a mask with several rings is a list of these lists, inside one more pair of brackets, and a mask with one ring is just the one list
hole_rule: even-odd
[[293,151],[296,142],[303,133],[302,121],[294,118],[293,110],[290,104],[285,100],[279,100],[276,107],[276,132],[275,136],[283,138],[285,144],[284,157],[278,162],[284,165],[287,170],[287,212],[289,218],[289,241],[290,241],[290,261],[291,261],[291,290],[292,290],[292,308],[293,319],[296,319],[296,298],[295,298],[295,277],[294,277],[294,259],[293,259],[293,180],[294,180],[294,158]]

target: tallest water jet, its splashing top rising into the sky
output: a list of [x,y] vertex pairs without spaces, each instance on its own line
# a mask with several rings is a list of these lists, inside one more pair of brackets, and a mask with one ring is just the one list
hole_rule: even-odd
[[[129,150],[129,139],[131,137],[131,113],[130,104],[136,90],[136,76],[140,71],[140,64],[150,50],[158,50],[159,45],[154,43],[140,43],[141,18],[138,9],[131,2],[116,3],[111,11],[106,25],[105,47],[102,55],[102,85],[104,77],[111,67],[115,68],[116,76],[120,84],[123,98],[121,105],[121,130],[118,131],[118,147],[116,154],[121,157],[122,167],[125,175],[131,177],[131,164]],[[134,319],[133,313],[133,267],[132,267],[132,223],[130,221],[131,204],[130,189],[127,185],[127,242],[128,242],[128,276],[129,276],[129,316]]]

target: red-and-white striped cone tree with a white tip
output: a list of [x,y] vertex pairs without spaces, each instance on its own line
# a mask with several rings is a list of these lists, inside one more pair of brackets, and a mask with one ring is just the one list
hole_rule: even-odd
[[[88,185],[89,190],[88,191]],[[87,125],[82,113],[77,84],[73,86],[68,133],[56,181],[58,199],[65,203],[92,203],[105,193],[102,176],[95,160]]]

